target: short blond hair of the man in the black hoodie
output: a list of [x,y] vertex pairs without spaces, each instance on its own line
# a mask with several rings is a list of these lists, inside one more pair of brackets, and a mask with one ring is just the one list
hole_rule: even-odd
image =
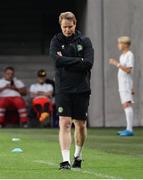
[[59,23],[61,24],[63,19],[67,19],[67,20],[71,20],[74,22],[74,24],[76,24],[77,19],[75,17],[75,15],[72,12],[63,12],[60,14],[59,16]]

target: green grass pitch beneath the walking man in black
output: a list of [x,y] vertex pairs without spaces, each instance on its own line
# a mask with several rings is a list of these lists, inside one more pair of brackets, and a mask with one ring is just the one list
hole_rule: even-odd
[[[60,171],[58,130],[1,129],[0,178],[143,178],[143,130],[136,129],[136,136],[128,138],[116,132],[89,129],[83,168]],[[15,137],[21,140],[13,142]],[[15,147],[23,153],[12,153]]]

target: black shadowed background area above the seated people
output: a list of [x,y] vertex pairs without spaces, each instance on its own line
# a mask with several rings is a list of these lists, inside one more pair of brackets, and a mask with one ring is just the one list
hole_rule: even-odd
[[73,11],[81,17],[83,8],[84,0],[1,1],[0,54],[48,54],[50,39],[60,30],[59,14]]

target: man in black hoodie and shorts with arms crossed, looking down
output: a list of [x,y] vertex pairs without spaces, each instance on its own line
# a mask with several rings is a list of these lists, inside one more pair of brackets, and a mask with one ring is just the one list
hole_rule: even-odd
[[59,113],[59,142],[63,162],[60,169],[70,169],[71,125],[75,125],[73,168],[80,168],[86,139],[86,119],[90,97],[90,70],[94,50],[89,38],[76,30],[72,12],[59,16],[62,33],[53,37],[50,56],[56,68],[56,106]]

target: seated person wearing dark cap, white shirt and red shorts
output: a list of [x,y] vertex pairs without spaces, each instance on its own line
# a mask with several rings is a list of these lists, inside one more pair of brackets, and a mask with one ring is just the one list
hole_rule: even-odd
[[32,107],[37,118],[43,123],[52,112],[53,86],[46,83],[47,73],[41,69],[37,72],[37,83],[30,86]]

